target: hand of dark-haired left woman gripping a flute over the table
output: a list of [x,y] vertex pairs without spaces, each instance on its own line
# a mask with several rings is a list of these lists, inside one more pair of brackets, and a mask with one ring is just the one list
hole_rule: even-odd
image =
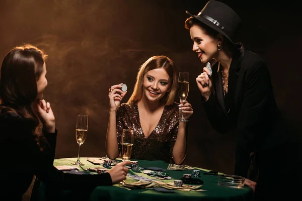
[[126,180],[126,175],[129,169],[126,168],[125,165],[130,165],[130,164],[131,164],[130,161],[124,161],[115,165],[110,170],[108,170],[108,173],[111,176],[111,180],[113,184]]

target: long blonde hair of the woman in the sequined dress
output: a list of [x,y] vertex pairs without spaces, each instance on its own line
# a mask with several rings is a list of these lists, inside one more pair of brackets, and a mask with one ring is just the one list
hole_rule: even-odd
[[171,81],[170,91],[163,97],[165,98],[165,105],[172,105],[174,103],[175,93],[177,90],[177,69],[174,61],[167,56],[150,57],[140,66],[136,76],[133,93],[127,103],[136,102],[142,98],[143,76],[146,72],[157,68],[164,68]]

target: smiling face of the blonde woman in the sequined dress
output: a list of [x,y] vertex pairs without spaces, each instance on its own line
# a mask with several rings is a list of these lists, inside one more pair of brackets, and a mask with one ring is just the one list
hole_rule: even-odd
[[164,68],[156,68],[143,76],[143,96],[150,101],[159,101],[168,92],[171,80]]

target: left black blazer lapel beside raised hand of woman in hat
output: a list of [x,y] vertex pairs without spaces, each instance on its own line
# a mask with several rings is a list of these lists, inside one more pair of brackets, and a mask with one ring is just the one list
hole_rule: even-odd
[[215,70],[215,73],[213,73],[213,75],[215,77],[213,77],[213,79],[215,80],[216,97],[217,97],[218,103],[221,106],[221,109],[224,112],[224,114],[228,115],[225,110],[225,104],[224,104],[224,98],[223,98],[221,66],[220,66],[220,69],[218,69],[218,62],[215,62],[213,64],[213,70]]

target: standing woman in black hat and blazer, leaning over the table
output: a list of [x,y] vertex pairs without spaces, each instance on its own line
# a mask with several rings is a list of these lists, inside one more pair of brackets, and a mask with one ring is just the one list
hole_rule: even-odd
[[[229,6],[209,1],[198,15],[187,14],[191,17],[185,28],[190,31],[193,51],[202,63],[215,60],[211,69],[204,67],[196,78],[207,117],[219,133],[239,132],[235,174],[247,178],[250,153],[254,152],[257,186],[250,180],[246,184],[256,187],[256,198],[272,198],[280,188],[278,175],[294,170],[295,158],[268,68],[259,55],[233,42],[241,19]],[[281,182],[289,180],[283,176]]]

